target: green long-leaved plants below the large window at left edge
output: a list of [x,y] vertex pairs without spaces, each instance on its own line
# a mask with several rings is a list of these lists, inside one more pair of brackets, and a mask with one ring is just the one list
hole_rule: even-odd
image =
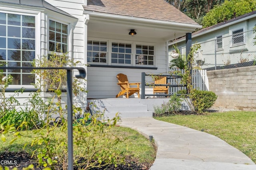
[[14,125],[15,127],[20,127],[20,130],[24,129],[34,129],[41,126],[44,121],[40,117],[40,113],[43,113],[47,106],[40,98],[38,92],[33,92],[30,94],[31,98],[24,103],[24,107],[20,106],[20,103],[16,99],[19,92],[23,92],[23,89],[17,90],[11,96],[6,96],[6,88],[12,82],[12,76],[3,76],[2,71],[0,71],[0,124],[3,126]]

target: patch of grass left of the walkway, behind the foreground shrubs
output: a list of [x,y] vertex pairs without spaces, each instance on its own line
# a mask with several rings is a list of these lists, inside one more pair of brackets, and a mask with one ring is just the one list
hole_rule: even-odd
[[[33,131],[21,131],[21,133],[24,136],[34,135]],[[60,132],[56,133],[56,135],[59,137],[63,136]],[[126,127],[113,127],[108,131],[108,135],[116,135],[123,141],[118,143],[115,147],[125,156],[130,156],[132,160],[136,160],[136,162],[142,164],[152,164],[154,162],[156,155],[154,144],[137,131]],[[0,153],[5,151],[20,152],[26,143],[30,144],[33,140],[33,138],[30,137],[21,137],[14,141],[14,143],[10,144],[9,142],[13,139],[13,134],[7,133],[5,136],[6,142],[2,142],[2,140],[0,140]],[[32,153],[34,149],[36,148],[32,148],[30,145],[26,145],[24,148],[24,150],[29,153]]]

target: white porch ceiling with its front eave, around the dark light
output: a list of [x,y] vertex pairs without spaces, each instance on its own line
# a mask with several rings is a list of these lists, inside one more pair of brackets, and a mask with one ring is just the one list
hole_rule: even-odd
[[126,17],[126,16],[97,16],[95,14],[87,14],[88,37],[92,34],[105,33],[106,35],[116,35],[120,37],[130,37],[128,35],[130,29],[137,32],[136,39],[146,37],[156,39],[157,41],[169,41],[191,33],[200,27],[197,24],[186,24],[170,21],[149,20],[142,18]]

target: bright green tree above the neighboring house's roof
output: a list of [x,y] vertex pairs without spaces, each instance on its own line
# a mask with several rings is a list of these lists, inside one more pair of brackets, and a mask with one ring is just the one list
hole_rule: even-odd
[[203,20],[203,27],[209,27],[217,23],[223,22],[224,20],[230,20],[236,16],[252,12],[256,8],[255,0],[225,0],[220,6],[214,6],[210,12],[208,12]]

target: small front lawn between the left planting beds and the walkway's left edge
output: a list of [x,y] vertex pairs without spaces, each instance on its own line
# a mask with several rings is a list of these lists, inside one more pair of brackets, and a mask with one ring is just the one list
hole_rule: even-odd
[[[55,137],[58,139],[66,136],[63,134],[60,128],[61,127],[58,127],[55,132],[56,134]],[[45,131],[45,129],[41,129],[40,131],[41,132]],[[156,155],[156,149],[155,149],[154,143],[150,142],[144,136],[140,135],[137,131],[134,131],[126,127],[112,127],[110,129],[107,129],[105,132],[106,132],[106,135],[110,136],[110,139],[115,136],[122,141],[117,143],[114,146],[113,150],[118,150],[119,153],[121,153],[123,156],[126,157],[126,163],[127,163],[126,166],[131,166],[131,168],[133,168],[134,166],[136,168],[138,167],[149,168],[151,164],[154,162],[155,155]],[[35,150],[36,147],[40,147],[38,145],[34,145],[33,147],[31,147],[31,142],[32,140],[34,140],[34,138],[32,137],[35,136],[35,130],[20,131],[20,133],[22,134],[23,137],[14,141],[14,143],[12,144],[10,144],[10,141],[14,138],[14,133],[5,134],[6,142],[0,141],[1,143],[0,156],[1,154],[5,156],[8,155],[6,153],[11,153],[10,156],[13,156],[13,152],[18,154],[24,154],[22,150],[24,150],[25,152],[28,152],[28,154],[31,155],[32,151]],[[37,131],[36,134],[38,133],[39,132]],[[30,137],[24,137],[24,136],[30,136]],[[106,141],[102,141],[102,144],[100,144],[101,142],[99,142],[99,145],[104,146],[103,142],[106,142]],[[28,144],[28,145],[24,147],[25,144]],[[80,145],[81,147],[80,149],[76,149],[76,145],[74,145],[74,155],[79,155],[79,153],[76,153],[76,152],[82,152],[82,150],[86,148],[85,146],[86,146],[86,142],[84,142],[84,145],[83,144]],[[60,147],[60,150],[58,150],[58,154],[61,154],[61,153],[63,154],[64,151],[61,150],[62,148],[63,147]],[[19,161],[18,157],[20,157],[20,155],[17,155],[17,159],[16,159],[17,161]],[[8,160],[7,157],[5,159]],[[34,158],[34,160],[35,159],[36,158]],[[26,165],[25,162],[18,162],[18,164],[20,164],[20,166]]]

